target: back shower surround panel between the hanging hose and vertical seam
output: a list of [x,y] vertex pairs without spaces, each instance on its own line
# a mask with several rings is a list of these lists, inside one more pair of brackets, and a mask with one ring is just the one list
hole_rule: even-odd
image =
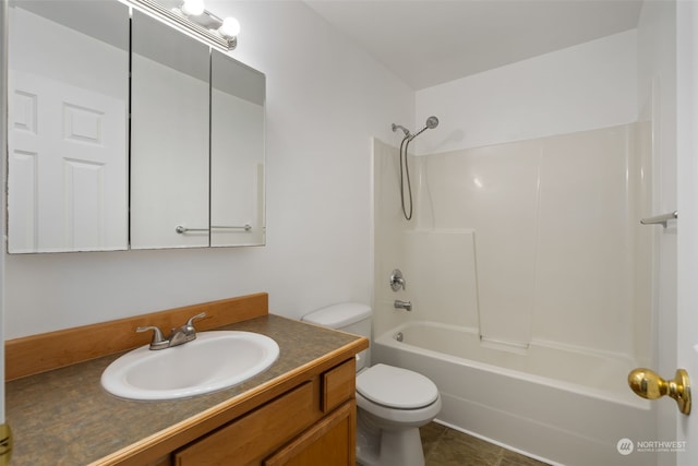
[[[428,183],[440,189],[466,184],[464,198],[446,189],[432,204],[446,205],[476,231],[480,332],[483,336],[517,344],[531,339],[541,146],[534,142],[502,144],[462,152],[460,169],[446,163]],[[453,162],[453,158],[449,158]],[[428,157],[425,164],[438,164]],[[436,217],[435,217],[436,219]],[[445,218],[444,224],[456,224]],[[438,217],[434,225],[441,228]]]

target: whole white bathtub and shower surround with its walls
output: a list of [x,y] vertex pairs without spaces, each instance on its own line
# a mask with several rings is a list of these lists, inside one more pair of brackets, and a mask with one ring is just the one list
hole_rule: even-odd
[[654,464],[615,449],[657,438],[626,385],[652,366],[650,134],[633,123],[417,157],[410,224],[397,150],[375,141],[375,360],[433,379],[440,419],[459,429],[570,466]]

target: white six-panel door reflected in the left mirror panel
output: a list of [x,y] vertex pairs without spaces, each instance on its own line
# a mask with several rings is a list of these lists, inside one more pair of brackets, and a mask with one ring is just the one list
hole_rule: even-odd
[[10,252],[125,249],[124,103],[9,75]]

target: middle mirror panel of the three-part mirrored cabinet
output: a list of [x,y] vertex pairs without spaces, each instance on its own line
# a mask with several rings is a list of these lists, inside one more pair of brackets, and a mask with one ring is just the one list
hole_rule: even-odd
[[131,248],[206,247],[209,49],[139,11],[131,40]]

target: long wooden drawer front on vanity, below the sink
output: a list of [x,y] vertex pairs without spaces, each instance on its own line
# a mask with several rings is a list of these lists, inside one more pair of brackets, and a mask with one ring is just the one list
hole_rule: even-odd
[[306,382],[179,451],[174,464],[249,464],[312,425],[318,416],[313,399],[313,383]]

